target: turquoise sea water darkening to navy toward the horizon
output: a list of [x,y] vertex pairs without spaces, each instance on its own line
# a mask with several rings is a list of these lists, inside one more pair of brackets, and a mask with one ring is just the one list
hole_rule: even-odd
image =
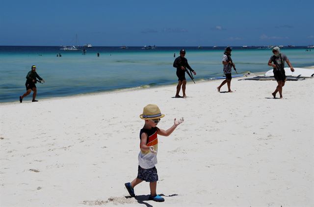
[[[18,101],[25,93],[25,77],[31,65],[36,65],[38,75],[46,80],[44,84],[37,83],[38,99],[178,82],[172,65],[174,53],[177,57],[181,47],[157,47],[155,50],[93,47],[85,48],[85,55],[81,50],[59,49],[0,46],[0,102]],[[185,47],[185,50],[185,57],[197,73],[196,80],[223,75],[223,47]],[[283,48],[282,52],[294,67],[314,65],[314,50],[296,47]],[[62,57],[57,57],[58,53]],[[232,51],[238,73],[270,70],[267,62],[271,55],[271,50],[257,47],[234,47]],[[189,81],[187,75],[186,78]],[[24,100],[31,100],[31,95]]]

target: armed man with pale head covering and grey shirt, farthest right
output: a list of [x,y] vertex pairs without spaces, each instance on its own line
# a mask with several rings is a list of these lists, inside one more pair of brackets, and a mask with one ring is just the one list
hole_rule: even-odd
[[[274,98],[276,98],[276,94],[277,92],[279,92],[280,99],[282,99],[283,87],[286,81],[285,61],[290,67],[291,72],[294,71],[294,68],[292,67],[288,57],[284,53],[280,53],[279,47],[274,47],[272,51],[274,55],[272,55],[268,60],[268,65],[273,67],[274,78],[277,80],[278,83],[276,90],[272,93],[272,95]],[[272,62],[274,64],[272,64]]]

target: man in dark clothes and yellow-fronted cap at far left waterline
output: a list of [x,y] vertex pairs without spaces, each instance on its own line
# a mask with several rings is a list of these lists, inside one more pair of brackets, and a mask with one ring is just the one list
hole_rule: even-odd
[[29,71],[27,73],[26,76],[26,93],[23,94],[23,96],[20,96],[20,103],[22,103],[23,98],[26,97],[28,94],[30,94],[31,91],[33,91],[33,100],[32,102],[38,102],[37,100],[35,100],[36,98],[36,94],[37,94],[37,89],[36,89],[36,78],[38,78],[39,80],[45,82],[45,80],[43,78],[40,78],[40,76],[38,76],[38,74],[36,73],[36,66],[31,66],[31,71]]

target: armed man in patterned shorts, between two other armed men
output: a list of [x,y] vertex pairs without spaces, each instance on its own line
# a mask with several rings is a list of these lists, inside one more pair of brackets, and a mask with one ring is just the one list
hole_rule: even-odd
[[231,59],[231,48],[227,47],[224,56],[222,57],[222,64],[224,65],[224,74],[226,79],[222,81],[222,83],[217,87],[218,92],[220,92],[220,88],[227,83],[228,85],[228,92],[232,92],[230,85],[231,85],[231,71],[232,66],[235,68],[235,64],[232,62]]

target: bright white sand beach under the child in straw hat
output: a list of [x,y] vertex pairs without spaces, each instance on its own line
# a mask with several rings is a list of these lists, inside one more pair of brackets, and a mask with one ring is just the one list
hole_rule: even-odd
[[[0,206],[313,207],[314,78],[288,81],[284,99],[276,81],[237,79],[233,93],[188,80],[186,99],[170,85],[0,104]],[[158,136],[163,203],[148,201],[149,183],[136,198],[124,186],[148,103],[166,115],[161,129],[185,120]]]

